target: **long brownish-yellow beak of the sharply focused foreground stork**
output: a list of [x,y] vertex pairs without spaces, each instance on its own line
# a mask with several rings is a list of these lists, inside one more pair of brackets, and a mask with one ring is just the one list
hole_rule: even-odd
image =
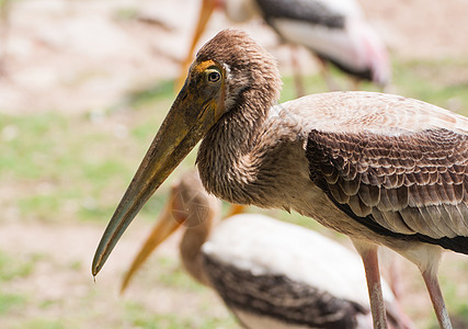
[[217,110],[215,100],[190,93],[185,83],[101,238],[92,264],[94,276],[148,198],[219,118]]

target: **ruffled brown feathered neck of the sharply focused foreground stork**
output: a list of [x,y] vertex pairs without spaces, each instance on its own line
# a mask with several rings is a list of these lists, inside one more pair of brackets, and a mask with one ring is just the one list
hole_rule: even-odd
[[272,100],[244,91],[203,139],[197,164],[205,189],[232,203],[251,203],[246,184],[255,180],[249,155],[258,144]]

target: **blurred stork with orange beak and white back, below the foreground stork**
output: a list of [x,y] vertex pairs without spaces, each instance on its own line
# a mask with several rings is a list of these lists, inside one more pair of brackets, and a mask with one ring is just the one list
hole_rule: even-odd
[[[214,288],[243,327],[372,328],[357,254],[320,234],[265,215],[238,214],[219,223],[220,208],[197,171],[179,178],[121,292],[151,252],[182,227],[184,268]],[[411,328],[385,283],[384,292],[392,328]]]

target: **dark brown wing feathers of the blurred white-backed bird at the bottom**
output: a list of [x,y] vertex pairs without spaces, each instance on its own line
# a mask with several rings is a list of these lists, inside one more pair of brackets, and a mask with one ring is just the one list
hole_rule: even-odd
[[271,317],[292,327],[355,328],[368,310],[361,304],[331,295],[320,287],[282,274],[255,274],[203,254],[206,273],[232,309]]

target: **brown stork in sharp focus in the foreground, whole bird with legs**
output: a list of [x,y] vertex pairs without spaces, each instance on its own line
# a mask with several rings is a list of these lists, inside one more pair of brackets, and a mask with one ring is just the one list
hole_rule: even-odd
[[145,202],[201,140],[205,189],[283,208],[347,235],[364,263],[375,328],[386,328],[379,246],[421,271],[440,326],[444,250],[468,253],[468,118],[401,95],[310,94],[277,104],[277,63],[247,33],[220,31],[197,53],[101,238],[96,275]]

